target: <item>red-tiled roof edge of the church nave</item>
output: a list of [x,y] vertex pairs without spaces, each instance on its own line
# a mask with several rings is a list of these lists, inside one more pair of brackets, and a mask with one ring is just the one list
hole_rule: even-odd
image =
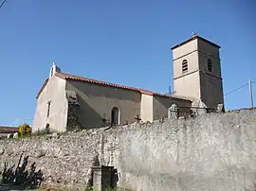
[[[140,94],[149,95],[149,96],[165,96],[165,97],[170,97],[170,98],[172,97],[175,99],[190,100],[189,98],[185,98],[185,97],[167,96],[167,95],[163,95],[160,93],[155,93],[152,91],[143,90],[143,89],[139,89],[139,88],[135,88],[135,87],[129,87],[129,86],[125,86],[125,85],[110,83],[110,82],[96,80],[96,79],[92,79],[92,78],[84,78],[84,77],[80,77],[80,76],[74,76],[74,75],[70,75],[70,74],[66,74],[66,73],[56,72],[54,75],[59,78],[64,78],[64,79],[78,80],[78,81],[83,81],[83,82],[88,82],[88,83],[95,83],[95,84],[103,85],[103,86],[109,86],[109,87],[114,87],[114,88],[136,91]],[[38,98],[40,96],[40,94],[43,92],[44,88],[46,87],[47,82],[48,82],[48,78],[46,79],[45,83],[43,84],[43,86],[42,86],[41,90],[39,91],[38,95],[36,96],[36,98]]]

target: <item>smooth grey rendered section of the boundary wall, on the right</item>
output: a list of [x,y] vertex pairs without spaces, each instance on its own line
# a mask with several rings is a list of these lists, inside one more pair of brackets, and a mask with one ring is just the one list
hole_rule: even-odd
[[119,135],[114,165],[135,190],[252,190],[255,133],[256,110],[144,125]]

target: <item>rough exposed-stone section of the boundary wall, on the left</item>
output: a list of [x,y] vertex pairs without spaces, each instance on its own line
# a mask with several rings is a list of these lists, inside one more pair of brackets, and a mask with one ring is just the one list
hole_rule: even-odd
[[90,130],[63,136],[2,140],[0,171],[4,162],[16,165],[24,153],[30,164],[35,162],[42,169],[47,187],[84,187],[91,176],[90,167],[99,155],[99,146],[100,134]]

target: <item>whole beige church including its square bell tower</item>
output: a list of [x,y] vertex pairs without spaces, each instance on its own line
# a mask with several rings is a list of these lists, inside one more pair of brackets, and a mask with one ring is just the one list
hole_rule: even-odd
[[32,131],[63,132],[119,126],[166,117],[175,105],[216,108],[224,104],[220,46],[193,35],[172,47],[174,94],[63,73],[53,63],[37,98]]

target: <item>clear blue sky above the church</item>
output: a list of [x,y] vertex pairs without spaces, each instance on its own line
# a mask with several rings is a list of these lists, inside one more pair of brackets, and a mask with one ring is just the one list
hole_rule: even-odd
[[[166,93],[170,48],[192,30],[221,45],[225,93],[256,80],[255,9],[254,0],[7,0],[0,9],[0,125],[31,124],[53,61],[66,73]],[[248,87],[225,103],[249,107]]]

